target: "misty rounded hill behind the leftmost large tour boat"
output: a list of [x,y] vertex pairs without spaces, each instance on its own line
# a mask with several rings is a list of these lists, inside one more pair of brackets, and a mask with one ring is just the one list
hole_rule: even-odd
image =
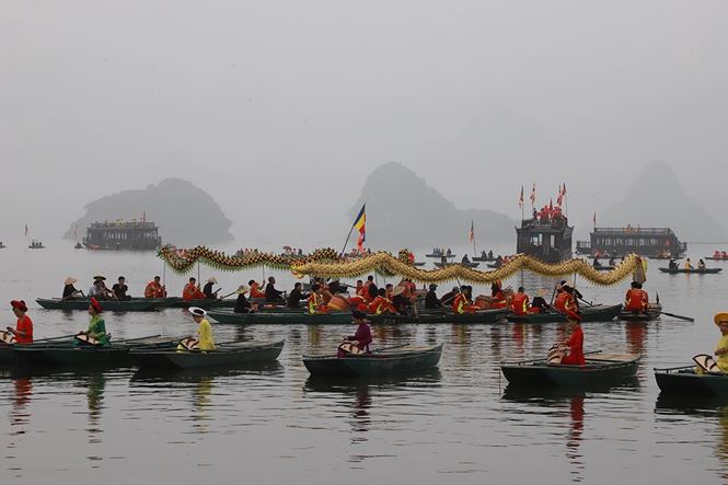
[[91,222],[115,219],[141,219],[155,222],[162,243],[175,245],[219,244],[232,241],[232,223],[220,206],[205,190],[181,178],[165,178],[143,189],[123,190],[84,206],[86,213],[71,223],[63,234],[73,239],[78,224],[79,239]]

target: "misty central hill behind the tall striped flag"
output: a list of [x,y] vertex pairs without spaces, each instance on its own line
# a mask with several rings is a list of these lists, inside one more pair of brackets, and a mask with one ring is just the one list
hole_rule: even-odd
[[396,162],[380,165],[369,175],[351,208],[353,217],[365,203],[367,246],[370,247],[429,249],[459,242],[469,244],[471,220],[479,249],[516,241],[515,222],[507,216],[486,209],[458,209],[424,178]]

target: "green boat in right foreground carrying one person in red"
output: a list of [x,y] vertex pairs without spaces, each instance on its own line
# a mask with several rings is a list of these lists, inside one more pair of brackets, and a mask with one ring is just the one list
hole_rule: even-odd
[[587,354],[585,366],[550,365],[546,359],[502,362],[500,370],[510,384],[590,385],[633,378],[639,354]]

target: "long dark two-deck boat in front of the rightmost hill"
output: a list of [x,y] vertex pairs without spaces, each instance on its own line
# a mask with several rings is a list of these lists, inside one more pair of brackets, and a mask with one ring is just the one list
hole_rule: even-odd
[[687,243],[680,242],[670,228],[594,228],[590,241],[577,241],[577,253],[622,257],[632,253],[658,258],[681,258]]

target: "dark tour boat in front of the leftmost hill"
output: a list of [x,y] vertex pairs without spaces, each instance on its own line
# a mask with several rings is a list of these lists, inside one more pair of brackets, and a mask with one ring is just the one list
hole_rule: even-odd
[[137,220],[93,222],[83,238],[83,245],[90,250],[151,251],[161,244],[157,224]]

